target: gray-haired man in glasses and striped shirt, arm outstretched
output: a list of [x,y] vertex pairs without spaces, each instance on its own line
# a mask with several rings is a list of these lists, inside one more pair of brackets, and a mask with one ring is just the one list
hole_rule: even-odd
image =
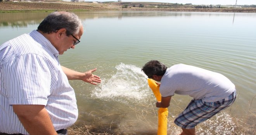
[[[58,55],[78,44],[83,25],[69,12],[49,14],[29,34],[0,46],[0,135],[67,135],[78,117],[68,79],[101,82],[60,65]],[[57,131],[57,132],[56,132]]]

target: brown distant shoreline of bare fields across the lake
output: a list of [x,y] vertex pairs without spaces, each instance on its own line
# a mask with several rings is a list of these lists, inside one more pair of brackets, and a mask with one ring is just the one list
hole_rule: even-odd
[[192,7],[171,7],[171,8],[152,8],[129,7],[124,8],[119,3],[88,3],[88,2],[0,2],[0,12],[53,12],[55,10],[66,11],[174,11],[174,12],[238,12],[256,13],[256,8],[192,8]]

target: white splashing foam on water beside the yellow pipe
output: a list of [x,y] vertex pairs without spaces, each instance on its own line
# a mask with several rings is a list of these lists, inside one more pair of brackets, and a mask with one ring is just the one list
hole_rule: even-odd
[[150,94],[147,76],[140,68],[130,64],[119,64],[109,80],[103,81],[92,93],[93,97],[103,100],[118,100],[123,103],[142,101]]

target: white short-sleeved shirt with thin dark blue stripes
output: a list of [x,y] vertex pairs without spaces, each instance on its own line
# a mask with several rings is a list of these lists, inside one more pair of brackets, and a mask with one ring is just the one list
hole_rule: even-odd
[[58,55],[36,30],[0,46],[0,132],[28,134],[12,105],[45,105],[55,130],[76,122],[74,89]]

